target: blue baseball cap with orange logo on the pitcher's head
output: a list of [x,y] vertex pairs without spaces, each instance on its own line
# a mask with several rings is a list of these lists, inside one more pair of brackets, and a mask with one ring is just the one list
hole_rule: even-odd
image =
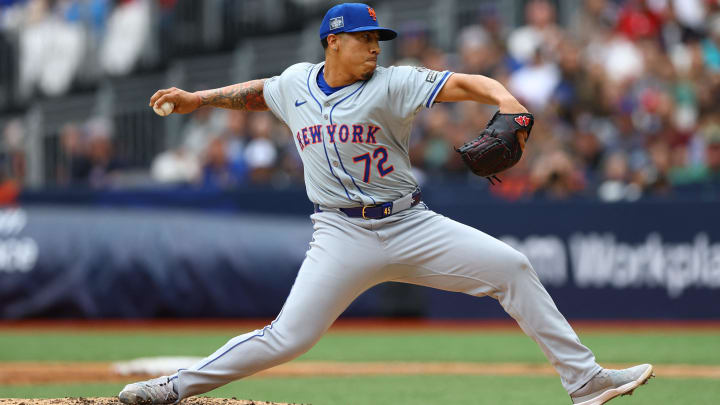
[[375,10],[362,3],[344,3],[328,10],[320,25],[320,39],[340,32],[377,31],[380,41],[397,37],[397,32],[377,24]]

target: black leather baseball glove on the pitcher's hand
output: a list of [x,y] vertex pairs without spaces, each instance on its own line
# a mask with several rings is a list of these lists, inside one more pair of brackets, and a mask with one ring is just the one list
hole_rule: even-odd
[[522,157],[518,132],[530,130],[535,122],[532,114],[501,114],[500,111],[488,122],[480,136],[456,148],[465,164],[478,176],[500,180],[496,174],[509,169]]

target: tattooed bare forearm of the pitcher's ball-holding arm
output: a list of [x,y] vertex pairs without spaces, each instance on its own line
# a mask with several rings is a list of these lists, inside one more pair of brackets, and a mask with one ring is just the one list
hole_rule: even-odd
[[267,111],[263,96],[265,79],[251,80],[245,83],[233,84],[219,89],[203,90],[197,92],[201,105],[230,108],[245,111]]

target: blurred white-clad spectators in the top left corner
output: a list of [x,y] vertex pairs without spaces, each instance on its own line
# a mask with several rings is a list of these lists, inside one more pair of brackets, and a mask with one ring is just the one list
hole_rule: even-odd
[[175,2],[0,0],[0,33],[17,38],[19,48],[18,97],[60,95],[98,77],[132,72],[156,53],[153,9],[162,15]]

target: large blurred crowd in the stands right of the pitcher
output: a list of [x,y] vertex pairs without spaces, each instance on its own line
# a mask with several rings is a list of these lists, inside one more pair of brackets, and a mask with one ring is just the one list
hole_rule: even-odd
[[[401,36],[401,63],[498,79],[536,116],[521,162],[491,191],[605,201],[707,188],[720,193],[720,6],[706,0],[586,0],[569,24],[529,1],[503,31],[489,12],[457,52]],[[492,109],[436,106],[420,117],[412,158],[427,173],[463,172],[452,145]]]

